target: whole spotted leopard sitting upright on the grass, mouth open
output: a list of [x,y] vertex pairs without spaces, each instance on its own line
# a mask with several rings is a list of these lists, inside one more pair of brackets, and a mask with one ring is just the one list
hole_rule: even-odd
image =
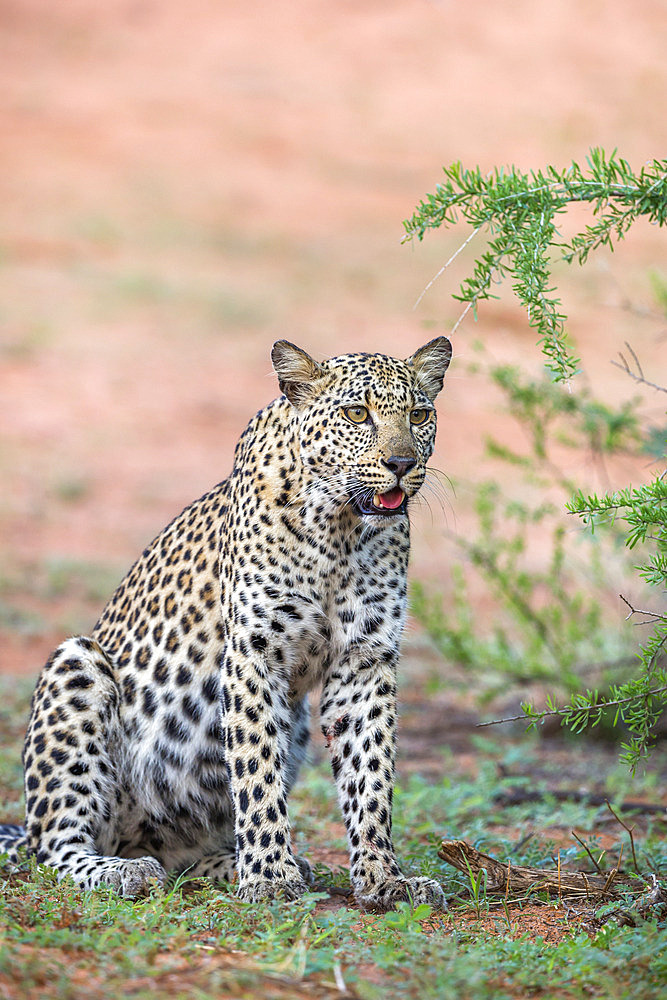
[[439,882],[399,866],[392,802],[409,513],[451,356],[444,336],[407,359],[273,345],[281,395],[229,476],[43,667],[25,822],[0,827],[10,862],[135,900],[178,873],[246,902],[298,899],[313,878],[287,797],[318,693],[356,903],[446,907]]

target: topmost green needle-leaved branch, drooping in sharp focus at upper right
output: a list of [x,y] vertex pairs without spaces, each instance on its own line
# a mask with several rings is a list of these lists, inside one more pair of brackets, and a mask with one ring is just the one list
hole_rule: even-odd
[[[552,253],[583,264],[592,250],[613,249],[639,216],[661,226],[667,220],[667,160],[653,160],[635,173],[615,152],[607,156],[593,149],[587,163],[587,170],[572,163],[564,170],[548,166],[523,173],[510,167],[488,174],[454,163],[444,168],[445,181],[435,193],[404,222],[405,240],[421,240],[427,229],[453,226],[459,218],[475,232],[488,232],[487,250],[454,297],[476,309],[478,302],[494,298],[493,286],[509,276],[557,381],[575,374],[578,359],[550,284]],[[595,221],[569,242],[561,241],[556,217],[574,202],[589,202]]]

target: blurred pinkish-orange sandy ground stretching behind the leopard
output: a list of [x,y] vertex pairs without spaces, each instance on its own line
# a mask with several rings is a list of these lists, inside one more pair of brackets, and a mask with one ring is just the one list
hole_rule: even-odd
[[[665,156],[666,52],[664,0],[0,0],[0,672],[90,627],[224,477],[275,339],[406,356],[451,329],[481,244],[413,309],[467,233],[400,242],[443,164]],[[665,246],[638,224],[557,271],[612,398],[626,340],[664,377]],[[468,479],[504,421],[475,339],[541,365],[509,293],[457,332],[435,465]],[[413,571],[445,590],[451,502],[415,523]]]

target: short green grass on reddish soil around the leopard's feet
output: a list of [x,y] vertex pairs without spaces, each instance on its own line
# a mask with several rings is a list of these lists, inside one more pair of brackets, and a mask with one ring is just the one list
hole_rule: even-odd
[[[0,757],[3,819],[17,819],[20,740],[30,686],[5,683],[0,692]],[[578,753],[586,752],[577,744]],[[600,809],[571,803],[499,808],[493,795],[517,783],[499,777],[516,771],[536,752],[535,740],[492,743],[477,748],[475,774],[456,772],[452,760],[443,777],[419,775],[397,790],[395,840],[406,869],[431,875],[446,885],[448,914],[403,904],[388,914],[362,914],[341,895],[347,872],[320,862],[316,887],[338,886],[328,897],[310,893],[297,903],[241,903],[201,881],[181,878],[168,891],[130,902],[110,891],[81,892],[70,881],[34,864],[0,875],[0,991],[32,1000],[67,998],[195,997],[386,997],[483,1000],[505,997],[584,998],[663,995],[667,977],[664,923],[637,927],[605,924],[587,933],[575,915],[542,901],[546,935],[524,933],[531,910],[505,911],[487,899],[485,886],[471,891],[470,879],[437,857],[442,837],[470,840],[482,850],[511,857],[517,864],[581,865],[586,854],[574,840],[558,847],[570,824],[591,847],[602,829]],[[560,765],[562,768],[562,765]],[[446,773],[445,773],[446,772]],[[653,791],[653,782],[646,789]],[[618,768],[607,787],[626,793]],[[643,786],[642,786],[643,787]],[[633,797],[642,788],[633,786]],[[555,815],[556,810],[558,814]],[[11,814],[11,815],[10,815]],[[342,848],[332,782],[324,762],[309,765],[295,790],[293,822],[297,842],[305,839],[312,856]],[[555,826],[555,822],[558,826]],[[563,828],[562,824],[568,826]],[[612,867],[627,837],[614,828],[601,865]],[[333,833],[333,836],[332,836]],[[528,834],[533,834],[528,835]],[[659,820],[637,821],[640,867],[667,870],[665,827]],[[598,852],[600,853],[600,852]],[[626,858],[629,856],[627,844]],[[526,925],[527,926],[527,925]],[[555,942],[555,943],[554,943]]]

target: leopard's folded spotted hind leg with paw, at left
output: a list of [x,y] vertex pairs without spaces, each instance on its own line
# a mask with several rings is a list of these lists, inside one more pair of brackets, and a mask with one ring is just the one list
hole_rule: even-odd
[[112,664],[92,639],[68,639],[40,676],[24,751],[28,852],[83,888],[136,898],[166,873],[152,857],[113,857],[122,753]]

